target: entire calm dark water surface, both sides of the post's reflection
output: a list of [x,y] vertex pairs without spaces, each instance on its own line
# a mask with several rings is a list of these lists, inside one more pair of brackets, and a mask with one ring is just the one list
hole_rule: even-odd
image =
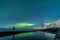
[[[54,35],[44,32],[29,32],[15,35],[15,40],[53,40]],[[13,40],[12,36],[1,37],[0,40]]]

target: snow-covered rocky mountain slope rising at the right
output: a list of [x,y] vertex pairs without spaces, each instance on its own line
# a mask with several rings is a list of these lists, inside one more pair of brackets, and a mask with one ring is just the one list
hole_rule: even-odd
[[53,23],[44,23],[43,25],[34,27],[34,29],[46,29],[46,28],[52,28],[52,27],[60,27],[60,19]]

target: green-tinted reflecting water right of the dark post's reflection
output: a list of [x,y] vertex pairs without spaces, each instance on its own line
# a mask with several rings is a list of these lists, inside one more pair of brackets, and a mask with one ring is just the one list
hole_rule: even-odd
[[18,39],[48,39],[52,40],[54,38],[53,34],[49,33],[44,33],[44,32],[29,32],[29,33],[22,33],[22,34],[17,34],[15,38]]

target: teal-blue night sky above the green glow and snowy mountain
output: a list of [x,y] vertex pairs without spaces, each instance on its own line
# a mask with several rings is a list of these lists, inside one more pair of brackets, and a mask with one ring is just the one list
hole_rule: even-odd
[[60,0],[0,0],[0,26],[60,19]]

